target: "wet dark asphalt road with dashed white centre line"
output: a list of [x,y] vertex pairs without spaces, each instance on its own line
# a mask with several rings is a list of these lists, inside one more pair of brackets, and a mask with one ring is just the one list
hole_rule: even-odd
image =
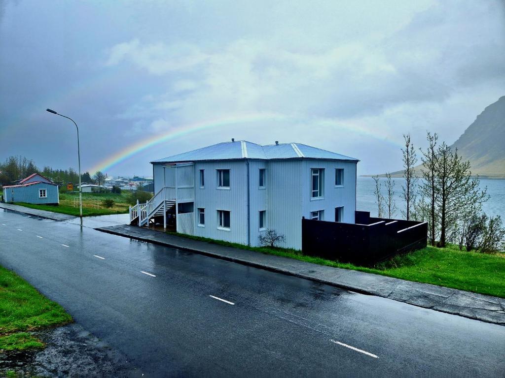
[[0,209],[0,264],[145,376],[491,376],[505,327]]

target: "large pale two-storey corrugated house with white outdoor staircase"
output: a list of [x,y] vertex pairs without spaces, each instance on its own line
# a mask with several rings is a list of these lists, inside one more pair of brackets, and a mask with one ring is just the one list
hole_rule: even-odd
[[155,196],[130,220],[173,214],[178,232],[252,246],[270,228],[301,249],[302,217],[355,222],[358,161],[299,143],[219,143],[151,162]]

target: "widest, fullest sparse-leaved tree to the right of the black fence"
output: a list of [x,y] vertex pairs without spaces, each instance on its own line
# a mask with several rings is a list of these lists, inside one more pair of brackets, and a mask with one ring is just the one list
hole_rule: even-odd
[[482,203],[489,199],[487,188],[480,190],[479,183],[478,176],[472,177],[470,162],[442,142],[434,165],[434,207],[440,218],[440,247],[447,243],[449,228],[459,220],[480,213]]

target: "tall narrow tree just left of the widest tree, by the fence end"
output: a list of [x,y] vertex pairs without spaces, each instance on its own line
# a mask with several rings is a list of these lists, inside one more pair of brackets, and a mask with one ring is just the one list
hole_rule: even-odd
[[[436,146],[438,136],[427,133],[428,147],[425,151],[421,150],[423,156],[422,177],[424,178],[421,185],[421,192],[424,197],[429,199],[429,226],[430,226],[430,244],[435,245],[435,167],[436,167]],[[424,201],[423,201],[424,204]]]

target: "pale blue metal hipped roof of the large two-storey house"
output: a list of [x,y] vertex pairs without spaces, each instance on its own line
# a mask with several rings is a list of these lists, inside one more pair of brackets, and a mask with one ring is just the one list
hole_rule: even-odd
[[261,146],[247,141],[223,142],[197,150],[173,155],[151,163],[170,163],[196,160],[234,160],[234,159],[325,159],[359,160],[349,156],[307,146],[301,143],[279,143]]

